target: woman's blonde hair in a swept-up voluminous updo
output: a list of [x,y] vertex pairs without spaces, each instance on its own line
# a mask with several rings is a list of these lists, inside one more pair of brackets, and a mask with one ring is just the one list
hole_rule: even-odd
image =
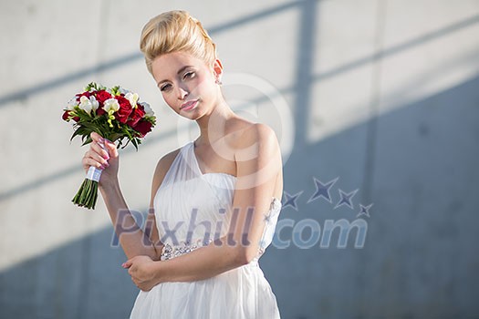
[[186,52],[208,66],[217,58],[216,46],[200,21],[182,10],[153,17],[141,31],[140,49],[151,74],[153,60],[167,53]]

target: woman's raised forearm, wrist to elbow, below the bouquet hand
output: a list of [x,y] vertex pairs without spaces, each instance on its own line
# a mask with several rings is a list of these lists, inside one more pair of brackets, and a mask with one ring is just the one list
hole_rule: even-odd
[[121,248],[127,258],[138,255],[150,256],[152,260],[159,260],[161,247],[156,247],[150,238],[143,232],[133,219],[127,203],[120,190],[120,182],[110,182],[100,186],[99,190],[109,211],[113,228],[117,233]]

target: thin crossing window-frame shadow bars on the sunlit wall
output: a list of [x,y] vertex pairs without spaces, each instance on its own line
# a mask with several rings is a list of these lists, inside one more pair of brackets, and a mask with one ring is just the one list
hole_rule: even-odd
[[[264,10],[262,12],[255,13],[254,15],[248,15],[248,16],[239,18],[237,20],[234,20],[232,22],[229,22],[227,24],[224,24],[221,26],[214,26],[211,28],[211,34],[213,35],[214,33],[223,32],[233,27],[241,26],[245,23],[251,23],[259,18],[265,18],[269,15],[273,15],[283,10],[290,9],[296,6],[300,9],[300,12],[303,18],[301,19],[302,23],[299,27],[297,46],[305,48],[305,49],[299,50],[298,52],[297,74],[296,74],[295,84],[292,87],[284,87],[279,90],[280,94],[282,95],[295,92],[296,93],[295,105],[303,106],[302,108],[297,108],[297,112],[295,114],[296,128],[297,128],[297,131],[295,133],[297,137],[295,147],[299,147],[299,148],[301,148],[302,145],[304,145],[304,140],[305,140],[306,133],[304,129],[307,127],[306,126],[307,105],[308,105],[307,103],[309,102],[309,99],[310,99],[310,94],[311,94],[310,87],[312,82],[323,81],[331,77],[337,77],[341,74],[357,69],[358,67],[363,67],[366,64],[377,61],[379,58],[394,56],[396,54],[404,52],[405,50],[411,49],[414,46],[420,46],[436,38],[449,35],[456,31],[460,31],[465,27],[474,26],[476,23],[479,22],[479,15],[474,15],[470,18],[464,19],[463,21],[459,21],[450,26],[445,26],[441,29],[434,30],[425,35],[418,36],[416,38],[406,41],[405,43],[401,43],[397,46],[392,46],[390,48],[387,48],[371,56],[361,57],[359,59],[350,61],[349,63],[346,63],[342,66],[334,67],[333,69],[326,70],[318,75],[312,75],[310,74],[310,69],[311,69],[310,63],[312,62],[312,57],[313,57],[313,52],[312,52],[313,44],[314,44],[313,30],[317,20],[317,16],[314,13],[316,12],[315,10],[317,7],[317,3],[318,1],[315,1],[315,0],[301,0],[301,1],[291,2],[286,5],[279,5],[279,6]],[[52,79],[51,81],[47,81],[36,87],[28,87],[11,94],[7,94],[4,97],[0,97],[0,108],[7,106],[8,103],[13,100],[26,98],[27,96],[39,94],[46,90],[53,89],[57,86],[61,86],[65,83],[68,83],[68,81],[77,80],[78,78],[81,78],[81,77],[86,77],[91,74],[109,70],[111,68],[120,67],[124,64],[130,63],[131,61],[134,61],[139,58],[141,58],[140,54],[131,54],[129,56],[120,57],[118,59],[109,61],[108,63],[100,64],[95,67],[90,67],[89,69],[83,70],[78,73],[68,74],[65,77]],[[264,97],[258,98],[252,102],[255,104],[259,104],[264,102],[265,99],[266,98]],[[175,131],[166,132],[154,139],[148,139],[144,144],[155,143],[158,140],[171,136],[172,134],[176,134],[176,132]],[[129,152],[131,150],[127,149],[126,151]],[[52,172],[48,174],[47,176],[38,178],[36,180],[30,180],[22,185],[18,185],[11,189],[4,190],[3,192],[0,192],[0,201],[7,201],[8,199],[21,195],[25,192],[36,190],[37,188],[49,182],[53,182],[55,180],[61,180],[67,177],[68,175],[74,174],[80,170],[81,168],[78,167],[77,164],[75,164],[64,170],[57,170],[56,172]]]

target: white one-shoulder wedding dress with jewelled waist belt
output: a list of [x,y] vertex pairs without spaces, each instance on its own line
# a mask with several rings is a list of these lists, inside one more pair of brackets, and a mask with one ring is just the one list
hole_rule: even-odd
[[[236,177],[202,173],[193,141],[185,144],[154,199],[156,223],[165,247],[161,260],[175,258],[222,237],[234,219]],[[276,319],[276,296],[258,265],[272,242],[281,201],[272,198],[265,232],[255,259],[239,268],[195,282],[160,283],[140,291],[131,319]],[[206,235],[205,235],[206,234]]]

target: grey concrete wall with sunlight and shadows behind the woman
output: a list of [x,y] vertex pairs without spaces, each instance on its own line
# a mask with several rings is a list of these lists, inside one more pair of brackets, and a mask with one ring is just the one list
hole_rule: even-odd
[[[2,0],[0,317],[130,314],[138,290],[102,201],[70,203],[85,149],[68,143],[61,109],[91,80],[151,103],[159,125],[138,152],[121,152],[123,192],[144,211],[157,160],[197,134],[164,104],[138,48],[148,19],[174,8],[213,36],[232,107],[286,145],[297,209],[284,196],[280,221],[367,223],[362,249],[356,231],[345,249],[338,232],[328,248],[268,249],[260,264],[282,316],[478,317],[477,0]],[[331,202],[308,202],[314,178],[338,178]],[[352,208],[335,208],[339,190],[357,190]],[[370,217],[359,204],[372,204]]]

